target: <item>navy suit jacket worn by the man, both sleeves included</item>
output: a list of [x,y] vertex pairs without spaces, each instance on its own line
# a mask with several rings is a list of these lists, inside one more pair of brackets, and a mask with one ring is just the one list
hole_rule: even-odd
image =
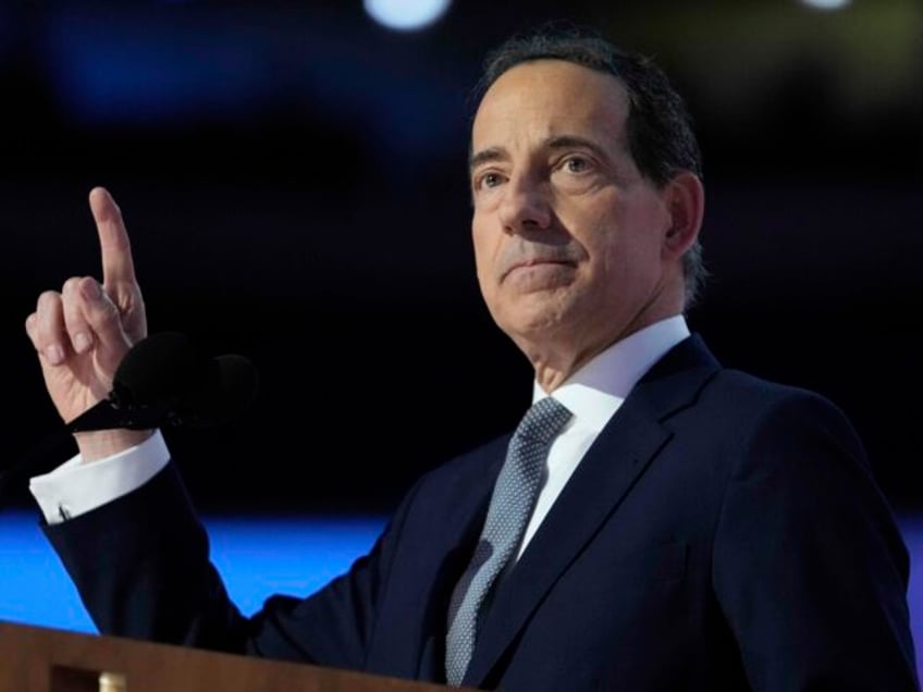
[[[444,682],[508,435],[435,468],[369,555],[253,617],[173,462],[45,527],[103,633]],[[844,413],[693,335],[632,390],[499,588],[465,680],[508,692],[919,690],[908,553]]]

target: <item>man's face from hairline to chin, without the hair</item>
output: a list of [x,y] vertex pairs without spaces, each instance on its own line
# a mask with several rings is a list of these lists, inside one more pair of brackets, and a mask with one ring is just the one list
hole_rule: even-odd
[[513,67],[478,109],[478,281],[533,361],[552,350],[577,367],[681,309],[678,262],[662,250],[668,205],[628,153],[627,114],[615,77],[561,60]]

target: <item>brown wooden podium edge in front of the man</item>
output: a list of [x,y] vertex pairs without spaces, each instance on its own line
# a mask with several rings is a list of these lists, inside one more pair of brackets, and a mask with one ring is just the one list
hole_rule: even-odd
[[448,689],[458,690],[321,666],[0,621],[0,692],[445,692]]

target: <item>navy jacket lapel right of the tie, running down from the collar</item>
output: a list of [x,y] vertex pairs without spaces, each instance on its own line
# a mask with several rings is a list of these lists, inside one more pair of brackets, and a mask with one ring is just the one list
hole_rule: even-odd
[[590,543],[670,436],[661,423],[688,406],[717,361],[693,336],[643,379],[587,452],[484,619],[464,684],[483,684],[530,614]]

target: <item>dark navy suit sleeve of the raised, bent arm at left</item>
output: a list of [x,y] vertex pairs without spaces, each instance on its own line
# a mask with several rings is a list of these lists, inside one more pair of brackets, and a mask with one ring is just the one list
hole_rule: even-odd
[[128,495],[42,531],[101,633],[348,668],[361,668],[391,555],[382,536],[318,593],[273,595],[245,617],[172,462]]

